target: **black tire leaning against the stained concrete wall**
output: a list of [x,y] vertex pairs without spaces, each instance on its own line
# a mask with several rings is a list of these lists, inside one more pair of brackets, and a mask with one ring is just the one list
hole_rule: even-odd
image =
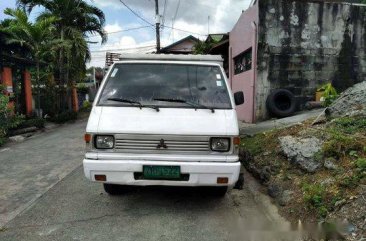
[[276,117],[291,116],[297,108],[295,96],[285,89],[272,91],[267,97],[266,104],[268,111]]

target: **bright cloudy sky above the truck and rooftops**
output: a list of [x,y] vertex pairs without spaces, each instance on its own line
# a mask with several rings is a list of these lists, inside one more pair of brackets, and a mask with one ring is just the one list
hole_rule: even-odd
[[[154,0],[85,0],[99,7],[106,16],[107,43],[101,45],[98,36],[89,36],[92,60],[88,66],[104,67],[106,51],[152,52],[156,48]],[[133,14],[123,3],[141,18]],[[14,8],[16,0],[0,0],[0,20],[5,8]],[[251,0],[159,0],[161,46],[165,47],[188,35],[205,40],[207,33],[231,31]],[[32,13],[37,15],[41,9]],[[31,18],[32,18],[31,16]],[[171,27],[176,30],[172,30]],[[179,29],[179,30],[178,30]],[[184,31],[186,32],[184,32]],[[96,43],[94,43],[96,42]]]

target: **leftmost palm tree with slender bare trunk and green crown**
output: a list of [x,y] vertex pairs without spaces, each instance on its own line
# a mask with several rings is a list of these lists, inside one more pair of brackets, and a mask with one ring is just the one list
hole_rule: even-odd
[[12,19],[2,29],[7,33],[5,42],[24,47],[30,51],[36,64],[36,83],[38,86],[38,110],[40,109],[40,65],[42,58],[49,54],[51,46],[58,41],[53,38],[56,17],[43,18],[32,23],[21,9],[5,9],[4,13]]

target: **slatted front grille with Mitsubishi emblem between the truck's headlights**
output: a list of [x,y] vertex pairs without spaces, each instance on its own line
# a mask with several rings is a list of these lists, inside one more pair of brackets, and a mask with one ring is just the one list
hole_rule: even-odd
[[[160,145],[160,148],[158,146]],[[157,136],[157,135],[116,135],[116,151],[125,152],[209,152],[208,137]]]

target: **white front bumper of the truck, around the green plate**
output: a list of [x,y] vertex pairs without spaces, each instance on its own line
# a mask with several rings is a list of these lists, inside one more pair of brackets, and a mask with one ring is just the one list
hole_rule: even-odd
[[[182,174],[188,174],[188,180],[145,180],[135,179],[144,165],[180,166]],[[95,180],[95,175],[106,175],[105,183],[137,186],[233,186],[238,180],[240,162],[172,162],[137,160],[91,160],[83,161],[85,176]],[[227,177],[228,184],[217,184],[218,177]]]

